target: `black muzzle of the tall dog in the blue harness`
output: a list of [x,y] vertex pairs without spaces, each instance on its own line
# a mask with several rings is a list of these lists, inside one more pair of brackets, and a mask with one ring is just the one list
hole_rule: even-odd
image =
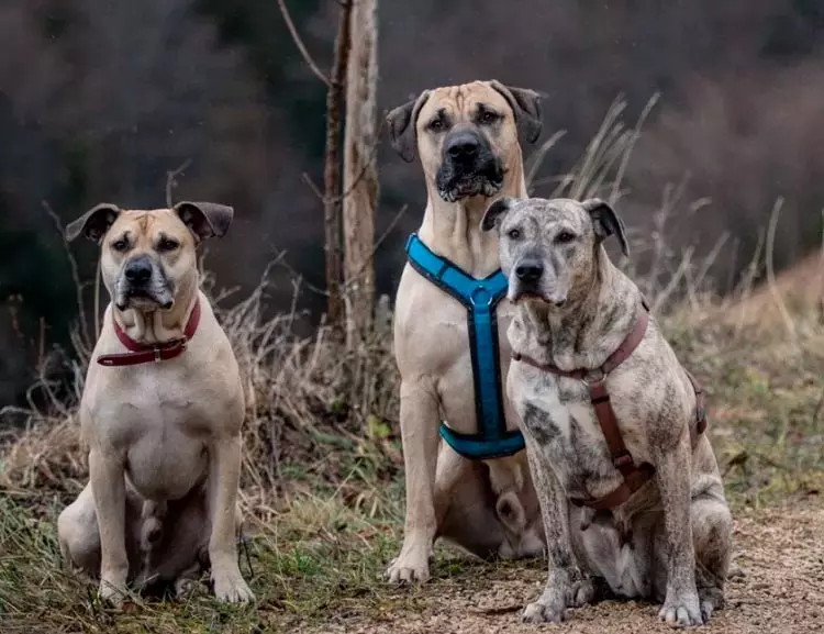
[[446,202],[472,196],[490,198],[503,186],[503,168],[482,134],[456,130],[444,141],[436,185]]

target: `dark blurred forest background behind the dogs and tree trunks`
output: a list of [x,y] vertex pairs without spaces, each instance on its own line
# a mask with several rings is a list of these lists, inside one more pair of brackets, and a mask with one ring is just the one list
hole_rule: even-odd
[[[338,3],[287,4],[329,69]],[[777,197],[776,266],[820,245],[824,2],[415,0],[378,12],[380,121],[438,85],[495,78],[539,90],[542,141],[566,131],[536,181],[548,194],[619,94],[633,125],[659,92],[624,181],[620,211],[634,233],[652,232],[667,187],[681,187],[666,243],[706,256],[728,232],[712,269],[722,293]],[[281,249],[323,287],[323,204],[303,175],[322,182],[325,94],[274,0],[0,2],[0,405],[23,399],[36,362],[67,345],[77,319],[43,201],[64,223],[101,201],[160,207],[167,173],[191,162],[175,198],[235,208],[229,235],[208,246],[220,287],[256,286]],[[385,134],[378,166],[376,233],[409,204],[376,256],[378,292],[391,294],[424,189]],[[96,247],[73,251],[80,278],[93,279]],[[291,274],[270,275],[270,308],[288,310]],[[300,307],[316,320],[324,299],[303,288]]]

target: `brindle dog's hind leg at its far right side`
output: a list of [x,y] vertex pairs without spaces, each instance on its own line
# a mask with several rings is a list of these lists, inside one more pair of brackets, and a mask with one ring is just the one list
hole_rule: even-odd
[[706,623],[724,605],[724,582],[732,556],[733,516],[723,496],[702,493],[692,500],[695,585]]

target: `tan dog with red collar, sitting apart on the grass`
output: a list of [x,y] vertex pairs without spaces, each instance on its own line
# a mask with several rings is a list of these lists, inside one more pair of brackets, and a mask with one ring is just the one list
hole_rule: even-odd
[[177,592],[208,554],[214,593],[247,601],[237,565],[244,394],[229,340],[200,291],[196,247],[231,207],[99,204],[66,229],[101,245],[105,310],[80,403],[90,481],[60,513],[64,556],[119,603],[126,585]]

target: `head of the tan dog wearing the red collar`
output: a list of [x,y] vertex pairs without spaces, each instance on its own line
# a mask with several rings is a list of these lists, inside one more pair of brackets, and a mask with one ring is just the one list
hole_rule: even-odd
[[174,209],[121,210],[102,203],[66,226],[98,242],[103,282],[120,310],[170,310],[181,289],[197,287],[197,245],[222,236],[234,210],[212,202],[179,202]]

